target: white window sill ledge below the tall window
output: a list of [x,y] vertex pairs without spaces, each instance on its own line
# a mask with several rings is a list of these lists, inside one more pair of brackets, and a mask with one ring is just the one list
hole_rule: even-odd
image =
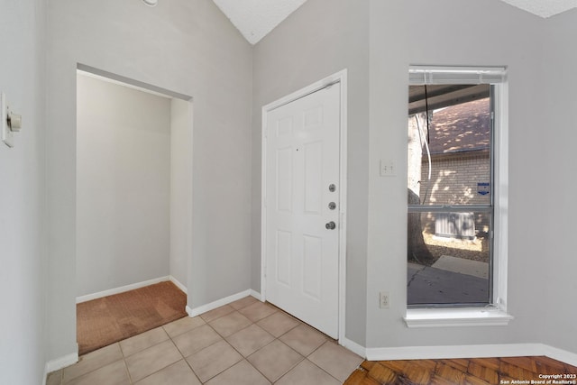
[[513,316],[499,309],[408,309],[408,327],[506,326]]

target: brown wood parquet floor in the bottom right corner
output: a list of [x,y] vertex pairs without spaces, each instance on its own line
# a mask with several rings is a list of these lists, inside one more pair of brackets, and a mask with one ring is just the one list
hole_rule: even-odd
[[[539,376],[541,374],[541,376]],[[544,378],[544,375],[560,375]],[[548,357],[365,361],[345,385],[577,384],[577,367]],[[533,380],[533,382],[532,382]],[[547,382],[547,380],[552,380]],[[527,382],[523,382],[527,381]],[[539,382],[542,381],[542,382]]]

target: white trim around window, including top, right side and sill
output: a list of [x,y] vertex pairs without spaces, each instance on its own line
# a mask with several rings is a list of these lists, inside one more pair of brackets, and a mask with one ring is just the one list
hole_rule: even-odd
[[[408,327],[508,325],[513,316],[507,311],[508,277],[508,82],[504,67],[432,67],[410,66],[409,84],[434,84],[432,79],[453,72],[459,82],[496,84],[494,137],[494,225],[493,225],[493,306],[464,308],[411,308],[403,320]],[[439,74],[441,76],[436,77]]]

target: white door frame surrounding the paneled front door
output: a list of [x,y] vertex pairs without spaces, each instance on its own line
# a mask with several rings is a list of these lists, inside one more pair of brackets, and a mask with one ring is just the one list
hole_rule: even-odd
[[338,236],[338,339],[345,332],[345,283],[346,283],[346,197],[347,197],[347,70],[343,69],[331,76],[301,88],[288,96],[262,107],[261,126],[261,301],[266,301],[266,261],[267,261],[267,117],[270,111],[288,105],[301,97],[308,96],[336,83],[341,85],[340,133],[339,133],[339,236]]

